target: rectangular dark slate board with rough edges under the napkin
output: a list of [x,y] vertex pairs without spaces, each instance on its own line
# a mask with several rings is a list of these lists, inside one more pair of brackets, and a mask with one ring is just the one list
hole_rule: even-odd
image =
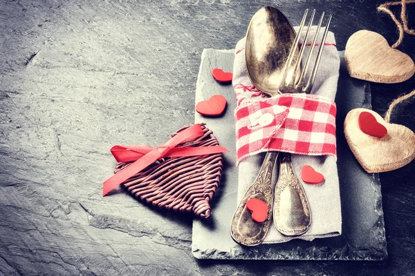
[[196,103],[212,95],[223,95],[228,106],[221,117],[203,117],[196,113],[195,122],[204,122],[213,130],[222,146],[230,150],[223,154],[223,176],[212,200],[212,215],[208,220],[195,219],[192,252],[198,259],[314,259],[314,260],[374,260],[387,258],[382,195],[378,174],[363,170],[347,146],[343,122],[353,108],[371,109],[369,84],[349,77],[340,55],[340,78],[335,102],[338,106],[338,174],[342,199],[342,235],[305,242],[295,239],[284,244],[240,246],[230,237],[230,221],[237,206],[238,171],[235,166],[234,108],[231,84],[217,83],[211,70],[232,71],[234,50],[203,50],[196,84]]

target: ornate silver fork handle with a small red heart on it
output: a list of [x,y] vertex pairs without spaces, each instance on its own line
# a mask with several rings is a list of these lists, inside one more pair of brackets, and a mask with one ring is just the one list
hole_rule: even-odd
[[[235,242],[245,246],[256,246],[264,241],[273,215],[273,170],[278,152],[267,152],[257,179],[251,184],[234,213],[230,225],[230,235]],[[246,208],[249,199],[259,199],[268,205],[268,213],[263,222],[252,220],[252,214]]]

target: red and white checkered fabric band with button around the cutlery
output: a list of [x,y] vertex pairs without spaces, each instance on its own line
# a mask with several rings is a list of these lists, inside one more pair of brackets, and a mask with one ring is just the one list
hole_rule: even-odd
[[[234,86],[235,92],[243,89]],[[239,101],[235,110],[237,164],[259,152],[336,156],[334,101],[318,95],[283,94]]]

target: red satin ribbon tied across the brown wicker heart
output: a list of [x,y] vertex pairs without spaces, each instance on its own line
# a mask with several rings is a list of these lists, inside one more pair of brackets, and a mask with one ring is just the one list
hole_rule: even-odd
[[178,132],[178,134],[167,141],[166,144],[159,146],[158,148],[151,148],[149,146],[113,146],[111,148],[111,153],[118,162],[135,162],[104,181],[104,185],[102,186],[102,196],[107,195],[113,188],[116,188],[122,184],[122,182],[133,175],[136,175],[136,173],[147,168],[147,166],[153,164],[160,158],[211,155],[229,151],[226,148],[223,148],[223,146],[176,148],[178,144],[192,141],[202,135],[203,129],[201,128],[201,125],[195,124]]

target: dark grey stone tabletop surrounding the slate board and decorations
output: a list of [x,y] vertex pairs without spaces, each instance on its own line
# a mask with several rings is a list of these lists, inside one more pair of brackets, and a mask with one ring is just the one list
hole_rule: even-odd
[[[394,43],[380,3],[0,0],[1,275],[414,275],[415,162],[380,174],[385,262],[198,261],[192,217],[101,195],[111,146],[158,146],[192,124],[203,48],[234,48],[256,10],[294,24],[305,8],[332,12],[344,50],[360,29]],[[414,44],[407,35],[399,50],[414,59]],[[414,87],[373,84],[374,110]],[[392,122],[415,130],[413,103]]]

